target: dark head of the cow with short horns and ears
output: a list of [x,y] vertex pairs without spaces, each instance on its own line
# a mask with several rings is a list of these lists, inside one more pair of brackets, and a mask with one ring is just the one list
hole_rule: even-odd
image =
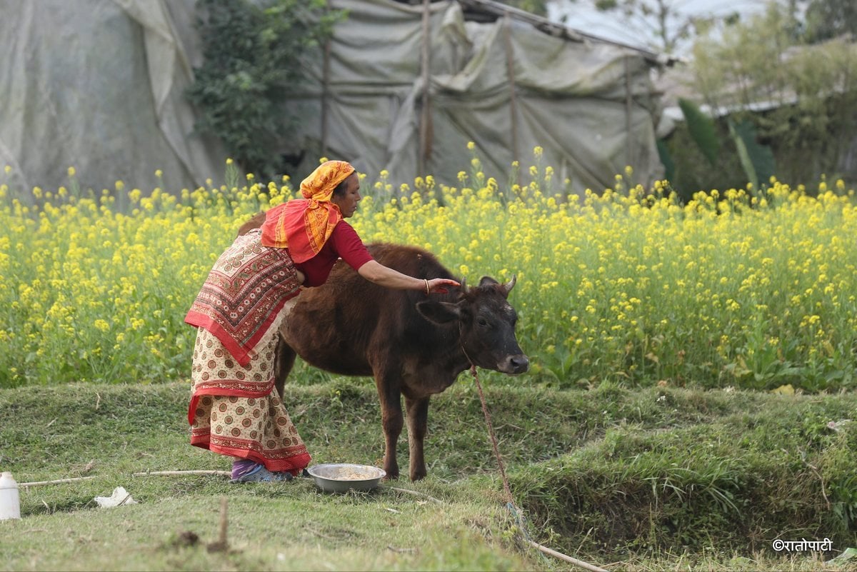
[[515,277],[505,284],[482,277],[479,286],[468,289],[462,282],[457,302],[421,301],[417,311],[434,324],[458,323],[464,354],[480,367],[517,374],[527,371],[530,360],[515,339],[518,313],[506,298]]

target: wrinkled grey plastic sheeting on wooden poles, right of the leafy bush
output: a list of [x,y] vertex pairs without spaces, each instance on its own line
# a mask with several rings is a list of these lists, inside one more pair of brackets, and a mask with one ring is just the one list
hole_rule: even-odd
[[[328,157],[350,159],[370,175],[387,169],[394,182],[432,174],[457,185],[458,172],[470,171],[468,141],[488,176],[500,180],[512,161],[531,164],[535,146],[544,149],[542,164],[578,193],[611,187],[626,165],[640,181],[662,176],[658,98],[642,53],[554,37],[508,17],[464,21],[454,1],[430,4],[430,144],[420,173],[423,6],[331,3],[349,18],[334,33],[327,92],[320,68],[315,86],[293,94],[301,101],[291,110],[312,119],[290,152],[323,144]],[[303,170],[314,161],[304,156]]]

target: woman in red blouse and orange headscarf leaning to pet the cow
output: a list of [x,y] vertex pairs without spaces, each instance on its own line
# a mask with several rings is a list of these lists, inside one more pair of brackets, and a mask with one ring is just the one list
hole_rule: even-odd
[[304,287],[325,283],[342,258],[391,289],[446,292],[454,280],[406,276],[379,264],[345,218],[360,197],[357,172],[327,161],[301,182],[303,200],[265,213],[209,273],[185,318],[198,328],[188,409],[190,443],[231,456],[231,482],[291,480],[311,457],[273,391],[277,331]]

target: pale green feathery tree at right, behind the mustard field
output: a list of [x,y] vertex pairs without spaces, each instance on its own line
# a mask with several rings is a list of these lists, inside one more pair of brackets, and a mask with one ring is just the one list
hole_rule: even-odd
[[[692,84],[711,109],[752,122],[758,140],[774,148],[777,176],[811,182],[824,173],[847,175],[841,158],[854,142],[857,44],[806,44],[798,14],[794,3],[771,2],[746,23],[700,37]],[[751,130],[742,133],[747,140]]]

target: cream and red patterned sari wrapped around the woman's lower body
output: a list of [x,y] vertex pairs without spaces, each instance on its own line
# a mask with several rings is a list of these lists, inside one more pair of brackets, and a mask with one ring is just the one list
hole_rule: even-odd
[[262,247],[261,232],[227,248],[186,321],[198,326],[188,408],[190,443],[298,474],[311,457],[273,391],[279,325],[300,293],[283,248]]

